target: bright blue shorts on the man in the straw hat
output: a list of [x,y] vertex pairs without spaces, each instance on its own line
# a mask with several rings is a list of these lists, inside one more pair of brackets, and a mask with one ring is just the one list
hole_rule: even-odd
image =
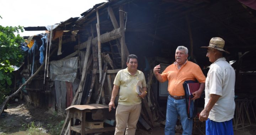
[[206,135],[234,135],[232,119],[224,122],[206,120]]

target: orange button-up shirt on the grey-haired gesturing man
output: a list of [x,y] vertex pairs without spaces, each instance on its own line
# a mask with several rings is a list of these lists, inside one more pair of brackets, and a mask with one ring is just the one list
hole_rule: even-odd
[[206,77],[204,76],[201,68],[191,62],[187,61],[178,70],[176,62],[167,66],[167,68],[162,72],[162,82],[168,80],[168,92],[172,96],[184,96],[185,91],[183,88],[184,81],[187,80],[197,80],[199,83],[205,83]]

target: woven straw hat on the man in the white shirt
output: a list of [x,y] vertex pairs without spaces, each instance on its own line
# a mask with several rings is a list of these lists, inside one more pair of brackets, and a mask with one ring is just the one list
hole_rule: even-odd
[[225,41],[222,38],[215,37],[210,40],[208,47],[201,47],[201,48],[214,48],[214,49],[217,49],[217,50],[220,50],[220,51],[230,54],[228,51],[225,51],[223,49],[224,45],[225,45]]

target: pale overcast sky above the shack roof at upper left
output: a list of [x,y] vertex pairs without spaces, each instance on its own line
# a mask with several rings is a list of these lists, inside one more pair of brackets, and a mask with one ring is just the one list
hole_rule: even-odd
[[[0,0],[0,25],[36,27],[54,25],[81,13],[106,0]],[[45,31],[20,32],[32,36]]]

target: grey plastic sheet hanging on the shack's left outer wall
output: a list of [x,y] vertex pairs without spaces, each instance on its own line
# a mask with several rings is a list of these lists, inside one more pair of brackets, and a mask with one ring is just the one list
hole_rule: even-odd
[[74,82],[77,74],[78,57],[65,60],[51,61],[50,79]]

